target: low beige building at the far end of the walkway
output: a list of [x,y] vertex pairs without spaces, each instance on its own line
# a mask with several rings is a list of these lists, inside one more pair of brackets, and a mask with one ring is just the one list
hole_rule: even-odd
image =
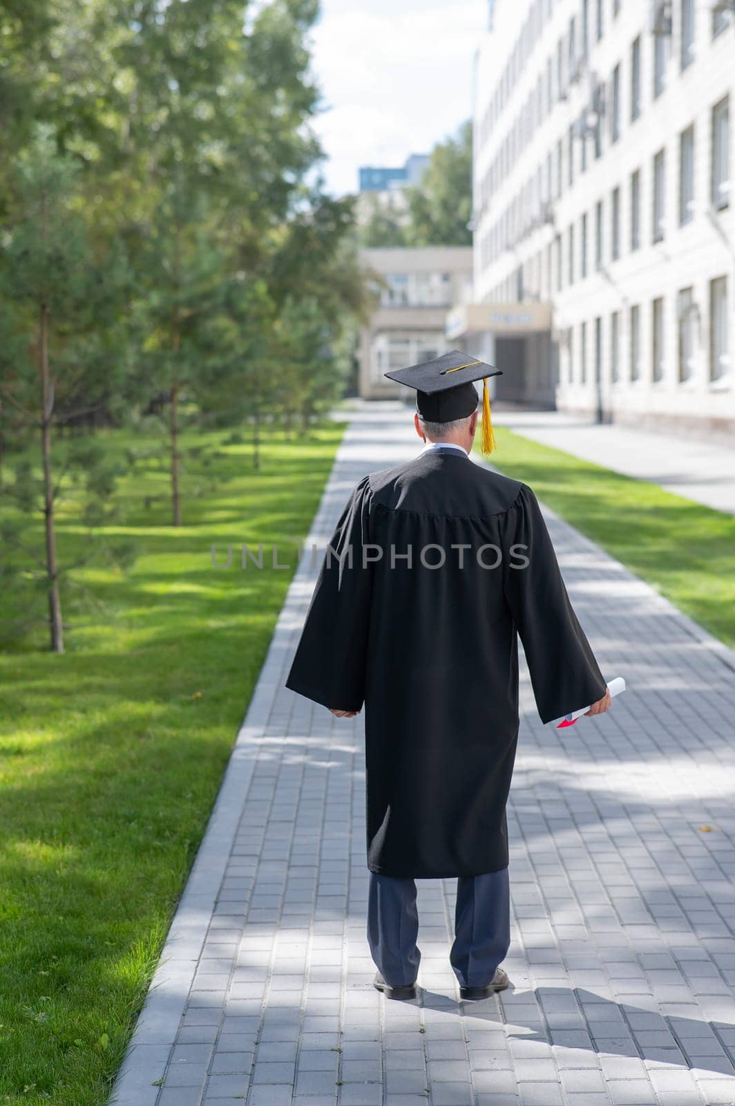
[[472,249],[369,249],[360,258],[387,286],[360,331],[359,394],[365,399],[395,399],[409,389],[387,380],[384,373],[452,348],[447,344],[447,312],[470,299]]

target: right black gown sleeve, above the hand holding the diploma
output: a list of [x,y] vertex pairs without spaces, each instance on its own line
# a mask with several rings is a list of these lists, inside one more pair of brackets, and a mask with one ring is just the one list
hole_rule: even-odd
[[[536,707],[550,722],[601,699],[606,681],[561,578],[538,501],[522,484],[498,518],[506,602],[523,641]],[[526,549],[516,549],[513,546]],[[527,557],[526,567],[513,567]]]

